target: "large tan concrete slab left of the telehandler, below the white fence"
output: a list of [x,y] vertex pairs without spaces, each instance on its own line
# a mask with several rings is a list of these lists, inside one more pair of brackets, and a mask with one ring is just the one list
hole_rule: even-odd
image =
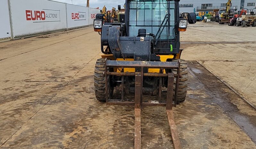
[[[92,29],[91,27],[89,28]],[[27,49],[26,47],[28,47],[29,50],[27,53],[13,55],[1,61],[0,81],[65,82],[70,80],[91,60],[91,55],[88,56],[88,52],[93,57],[100,52],[98,50],[100,49],[99,45],[84,44],[84,42],[93,43],[100,38],[97,33],[89,32],[88,28],[82,31],[78,29],[72,35],[58,34],[64,35],[64,38],[59,39],[62,36],[48,35],[49,38],[40,39],[43,45],[47,45],[37,50],[34,50],[36,45],[30,47],[30,44],[39,44],[39,41],[34,43],[33,40],[30,40],[27,41],[29,42],[27,44],[27,42],[22,43],[22,40],[18,40],[16,46],[20,45],[22,49]],[[91,36],[94,37],[92,38]],[[0,50],[0,55],[9,53],[6,51],[8,49],[10,53],[19,51],[16,51],[16,46],[12,46],[12,42],[4,44],[5,46],[3,47],[7,46],[13,49]]]

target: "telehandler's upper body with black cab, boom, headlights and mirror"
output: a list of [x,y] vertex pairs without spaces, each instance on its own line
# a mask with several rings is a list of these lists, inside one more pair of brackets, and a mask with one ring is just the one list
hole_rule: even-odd
[[[133,57],[134,53],[138,53],[136,50],[143,49],[140,54],[147,55],[143,60],[157,61],[159,58],[154,59],[156,55],[175,56],[180,53],[179,32],[186,31],[188,23],[196,23],[195,13],[185,14],[187,19],[180,18],[179,0],[126,0],[125,24],[103,25],[96,19],[94,29],[102,30],[102,45],[107,46],[107,50],[102,50],[104,54],[136,59],[136,56]],[[134,44],[130,44],[132,42]],[[132,50],[126,50],[126,46]]]

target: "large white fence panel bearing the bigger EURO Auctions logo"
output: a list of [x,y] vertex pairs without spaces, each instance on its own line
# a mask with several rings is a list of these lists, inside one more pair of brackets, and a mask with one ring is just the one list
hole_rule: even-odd
[[10,0],[13,36],[64,30],[66,4],[49,0]]

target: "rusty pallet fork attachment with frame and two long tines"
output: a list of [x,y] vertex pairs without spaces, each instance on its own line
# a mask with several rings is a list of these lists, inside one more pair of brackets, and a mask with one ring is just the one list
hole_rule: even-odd
[[[135,73],[131,72],[109,72],[109,68],[135,68]],[[145,69],[146,68],[146,69]],[[143,73],[149,68],[159,69],[159,73]],[[180,139],[177,132],[177,127],[173,115],[173,103],[176,106],[178,80],[180,76],[179,69],[180,61],[178,62],[153,62],[153,61],[105,61],[105,78],[106,78],[106,102],[107,105],[122,105],[135,106],[135,126],[134,126],[134,148],[141,149],[141,106],[166,106],[166,114],[171,130],[172,141],[175,149],[181,149]],[[164,73],[165,69],[177,69],[177,74]],[[121,99],[108,99],[109,95],[109,76],[121,76]],[[124,76],[135,76],[135,99],[124,100]],[[144,101],[142,98],[143,77],[159,77],[159,93],[158,101]],[[166,101],[161,101],[162,94],[162,77],[167,77],[167,98]],[[173,101],[174,77],[176,77],[175,98]]]

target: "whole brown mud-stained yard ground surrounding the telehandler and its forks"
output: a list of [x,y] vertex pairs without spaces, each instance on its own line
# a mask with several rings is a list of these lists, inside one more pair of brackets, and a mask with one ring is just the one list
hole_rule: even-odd
[[[237,74],[255,72],[256,28],[227,29],[199,22],[181,35],[189,88],[174,115],[183,148],[256,148],[256,110],[204,68],[237,91],[250,82]],[[133,148],[134,107],[94,96],[99,43],[92,27],[0,43],[0,148]],[[141,127],[142,148],[173,148],[164,107],[143,107]]]

